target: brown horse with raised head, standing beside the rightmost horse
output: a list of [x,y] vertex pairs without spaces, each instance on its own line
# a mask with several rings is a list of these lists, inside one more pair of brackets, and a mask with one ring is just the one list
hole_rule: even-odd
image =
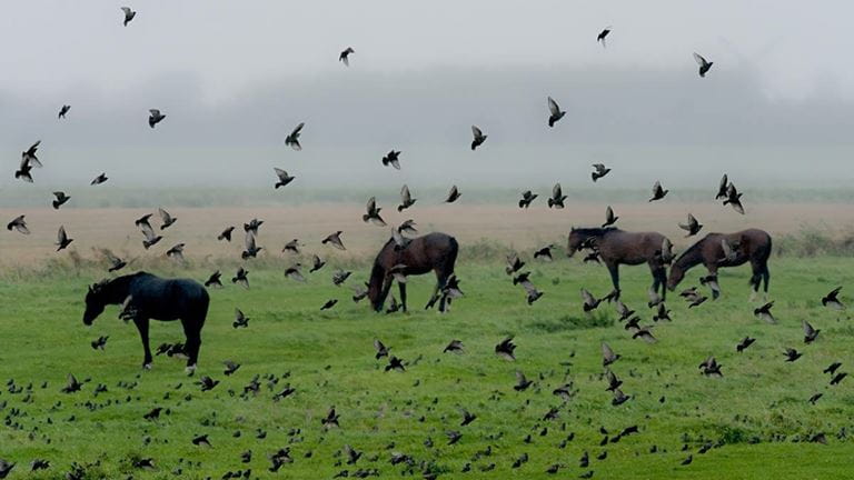
[[583,248],[598,251],[610,272],[615,298],[619,298],[619,266],[647,263],[653,273],[652,290],[657,293],[661,288],[664,299],[667,282],[667,270],[664,266],[669,254],[663,252],[665,243],[669,241],[656,232],[627,232],[617,228],[573,228],[569,231],[567,254],[572,257]]

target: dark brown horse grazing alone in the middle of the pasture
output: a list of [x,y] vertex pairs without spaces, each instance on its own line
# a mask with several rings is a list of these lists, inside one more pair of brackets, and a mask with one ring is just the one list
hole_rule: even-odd
[[[448,278],[454,274],[459,246],[454,237],[434,232],[407,240],[400,247],[389,239],[377,254],[368,281],[368,298],[374,310],[380,311],[388,297],[395,274],[404,277],[436,272],[434,297],[445,288]],[[406,283],[397,282],[400,289],[400,303],[406,311]],[[439,311],[445,311],[445,296],[439,301]],[[429,307],[429,303],[428,303]]]

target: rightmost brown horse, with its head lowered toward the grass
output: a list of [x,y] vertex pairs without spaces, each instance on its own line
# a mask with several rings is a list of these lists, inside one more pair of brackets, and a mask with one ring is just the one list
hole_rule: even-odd
[[[724,243],[732,249],[732,257],[726,258]],[[755,298],[759,291],[759,283],[764,283],[765,297],[768,294],[768,258],[771,257],[771,236],[759,229],[747,229],[734,233],[708,233],[693,246],[688,247],[671,267],[671,277],[667,288],[674,290],[691,268],[703,263],[712,279],[717,278],[717,269],[721,267],[738,267],[751,262],[753,276],[751,287]],[[713,289],[714,298],[719,296],[718,289]]]

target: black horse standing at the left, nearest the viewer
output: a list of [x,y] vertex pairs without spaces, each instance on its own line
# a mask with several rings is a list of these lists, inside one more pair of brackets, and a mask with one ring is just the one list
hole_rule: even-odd
[[187,371],[196,370],[201,346],[201,328],[208,314],[208,292],[199,282],[189,279],[161,279],[151,273],[137,272],[103,280],[89,287],[86,294],[83,323],[91,326],[105,306],[123,303],[123,319],[132,319],[139,329],[146,356],[142,368],[151,368],[148,344],[148,320],[181,320],[187,353]]

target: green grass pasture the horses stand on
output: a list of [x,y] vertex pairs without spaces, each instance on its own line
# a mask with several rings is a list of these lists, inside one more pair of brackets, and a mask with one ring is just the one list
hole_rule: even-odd
[[[854,260],[772,259],[778,324],[754,318],[746,268],[724,271],[724,296],[716,302],[687,310],[676,296],[668,299],[673,322],[656,324],[655,344],[632,340],[613,306],[582,313],[579,288],[599,296],[610,290],[604,268],[563,259],[532,267],[534,283],[545,291],[533,307],[502,263],[461,259],[465,298],[449,314],[420,310],[434,281],[421,277],[411,279],[410,313],[386,316],[350,300],[348,286],[364,281],[367,267],[337,288],[330,267],[298,284],[280,271],[250,266],[250,290],[229,283],[211,291],[192,378],[181,361],[166,356],[142,371],[137,331],[117,320],[117,307],[91,329],[83,327],[86,286],[99,272],[0,279],[0,380],[23,387],[12,393],[6,384],[0,392],[0,458],[18,463],[12,479],[66,478],[72,462],[83,466],[81,478],[91,479],[219,479],[247,468],[251,478],[294,479],[374,469],[381,478],[420,478],[425,471],[451,479],[578,478],[590,470],[602,479],[851,478],[854,379],[831,387],[822,370],[833,361],[843,362],[842,371],[854,366],[854,328],[845,312],[822,308],[820,299],[837,284],[852,284]],[[203,280],[208,273],[193,276]],[[651,323],[647,269],[623,273],[624,301]],[[693,270],[681,287],[699,273]],[[330,298],[338,306],[320,312]],[[250,317],[248,329],[232,329],[236,307]],[[822,330],[813,344],[803,342],[804,319]],[[109,341],[106,351],[96,351],[89,342],[101,334]],[[747,334],[756,343],[736,353]],[[515,362],[494,353],[506,336],[518,346]],[[408,362],[405,372],[384,371],[386,359],[374,359],[375,338]],[[464,342],[465,353],[443,353],[451,339]],[[152,323],[152,346],[182,340],[178,323]],[[612,369],[632,399],[618,407],[602,378],[603,341],[623,357]],[[803,351],[803,358],[784,362],[784,347]],[[723,378],[699,373],[709,354],[723,363]],[[226,377],[224,360],[241,367]],[[513,388],[517,370],[535,380],[527,391]],[[61,393],[69,373],[91,380],[77,393]],[[203,374],[219,386],[202,392],[196,381]],[[261,376],[260,392],[241,397],[255,376]],[[272,387],[270,376],[278,380]],[[577,390],[566,402],[552,393],[565,382]],[[108,391],[96,396],[99,383]],[[296,392],[274,401],[286,383]],[[816,404],[807,402],[817,392],[824,396]],[[340,428],[327,431],[320,419],[332,406]],[[155,407],[165,409],[160,419],[143,420]],[[459,407],[477,419],[460,427]],[[558,418],[544,420],[553,407]],[[600,428],[613,438],[629,426],[639,432],[600,446]],[[266,438],[256,438],[259,429]],[[461,433],[451,446],[450,430]],[[826,444],[808,442],[818,432]],[[208,434],[212,447],[193,446],[197,434]],[[699,453],[706,442],[715,447]],[[339,454],[345,444],[364,452],[356,464]],[[294,461],[271,473],[268,456],[281,448],[290,449]],[[475,458],[489,448],[490,456]],[[246,450],[252,458],[242,463]],[[585,451],[589,467],[580,468]],[[607,458],[597,459],[604,451]],[[393,452],[410,456],[413,466],[391,466]],[[514,468],[523,454],[528,461]],[[689,454],[693,462],[682,466]],[[51,467],[30,473],[36,458]],[[155,468],[135,468],[140,458],[152,458]],[[470,472],[461,473],[467,463]],[[493,463],[493,470],[481,470]],[[556,463],[558,473],[546,473]]]

